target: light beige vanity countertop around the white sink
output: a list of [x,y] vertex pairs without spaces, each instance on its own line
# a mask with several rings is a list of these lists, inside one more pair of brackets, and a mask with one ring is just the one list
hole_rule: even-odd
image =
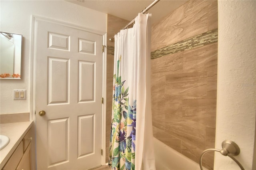
[[0,150],[0,169],[3,168],[22,138],[32,127],[32,123],[33,121],[0,124],[0,134],[10,138],[9,144]]

